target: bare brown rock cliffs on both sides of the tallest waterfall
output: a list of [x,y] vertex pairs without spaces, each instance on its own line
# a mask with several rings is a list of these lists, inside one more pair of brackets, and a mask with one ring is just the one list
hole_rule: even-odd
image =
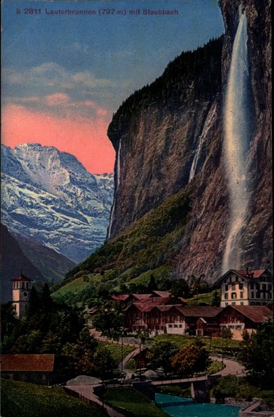
[[[180,81],[178,77],[167,81],[168,88],[162,91],[161,97],[155,99],[151,90],[145,99],[139,94],[142,106],[137,107],[138,111],[136,106],[125,106],[126,102],[108,131],[117,151],[109,237],[116,236],[186,187],[191,177],[191,213],[182,250],[173,263],[173,275],[177,278],[204,274],[209,281],[215,281],[221,272],[231,216],[223,154],[223,92],[239,22],[239,6],[245,10],[248,21],[254,120],[245,161],[250,206],[243,229],[241,267],[271,268],[271,10],[268,1],[220,1],[225,22],[223,50],[216,48],[214,60],[204,54],[200,63],[207,70],[188,77],[187,83],[183,81],[186,77],[182,78],[181,86],[177,87],[182,88],[182,94],[177,95],[176,102],[170,94]],[[220,79],[216,73],[212,74],[214,65],[218,71],[218,54]],[[183,58],[189,62],[189,56]],[[217,82],[209,87],[206,79],[200,81],[203,77]],[[165,79],[165,73],[161,79]],[[204,84],[199,92],[197,86],[201,82]]]

